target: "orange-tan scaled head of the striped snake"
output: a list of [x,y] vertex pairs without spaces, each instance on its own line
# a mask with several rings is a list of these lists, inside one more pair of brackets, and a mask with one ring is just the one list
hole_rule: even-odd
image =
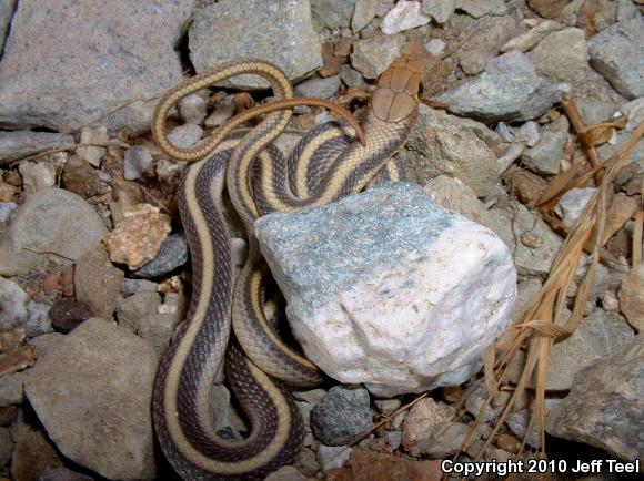
[[395,59],[378,80],[371,95],[370,109],[383,122],[403,122],[411,125],[419,111],[421,62],[407,55]]

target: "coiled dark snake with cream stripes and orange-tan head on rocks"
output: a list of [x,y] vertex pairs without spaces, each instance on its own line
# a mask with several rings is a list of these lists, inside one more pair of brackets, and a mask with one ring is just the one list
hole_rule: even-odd
[[[194,146],[172,144],[165,131],[172,105],[239,74],[263,78],[274,101],[242,112]],[[360,192],[385,170],[395,177],[392,156],[417,116],[420,79],[416,59],[394,60],[380,76],[360,125],[329,102],[294,98],[289,78],[262,60],[220,65],[160,99],[152,117],[154,141],[168,155],[193,162],[178,193],[192,257],[192,297],[163,355],[152,397],[157,438],[183,479],[260,480],[298,457],[305,432],[285,385],[312,386],[322,375],[281,340],[263,309],[266,267],[252,225],[270,212],[320,206]],[[288,126],[291,109],[301,104],[326,106],[342,120],[309,131],[286,160],[272,141]],[[231,134],[263,114],[245,135]],[[249,238],[249,255],[237,278],[224,188]],[[210,415],[210,390],[223,365],[250,421],[243,440],[223,440]]]

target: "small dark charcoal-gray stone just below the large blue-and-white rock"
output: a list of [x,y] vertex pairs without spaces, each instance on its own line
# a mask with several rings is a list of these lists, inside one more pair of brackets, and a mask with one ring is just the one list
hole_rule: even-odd
[[311,411],[313,433],[326,446],[346,444],[366,430],[372,419],[364,388],[334,386]]

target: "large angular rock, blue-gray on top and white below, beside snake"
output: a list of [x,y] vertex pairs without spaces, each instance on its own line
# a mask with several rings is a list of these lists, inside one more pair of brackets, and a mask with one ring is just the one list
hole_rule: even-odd
[[512,315],[516,273],[505,245],[417,185],[385,183],[270,214],[255,232],[306,356],[376,396],[469,379]]

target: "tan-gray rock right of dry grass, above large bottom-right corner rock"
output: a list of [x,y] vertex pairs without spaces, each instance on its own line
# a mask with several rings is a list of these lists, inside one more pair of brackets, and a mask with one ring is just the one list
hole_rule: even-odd
[[598,359],[620,355],[633,337],[622,316],[595,309],[571,337],[552,347],[546,389],[573,388],[577,372]]

